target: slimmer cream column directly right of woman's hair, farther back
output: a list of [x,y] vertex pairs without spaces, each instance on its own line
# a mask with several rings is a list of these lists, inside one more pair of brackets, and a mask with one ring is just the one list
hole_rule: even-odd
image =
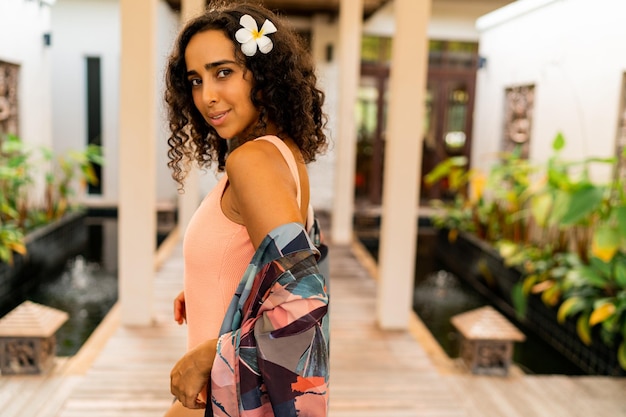
[[361,70],[363,0],[341,0],[339,6],[339,111],[335,141],[335,192],[331,237],[336,244],[352,242],[356,121],[354,107]]

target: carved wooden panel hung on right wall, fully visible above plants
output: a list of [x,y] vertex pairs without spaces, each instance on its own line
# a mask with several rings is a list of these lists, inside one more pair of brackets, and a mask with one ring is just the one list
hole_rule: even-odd
[[534,105],[534,85],[510,87],[505,90],[503,151],[510,152],[515,147],[521,146],[522,157],[528,157]]

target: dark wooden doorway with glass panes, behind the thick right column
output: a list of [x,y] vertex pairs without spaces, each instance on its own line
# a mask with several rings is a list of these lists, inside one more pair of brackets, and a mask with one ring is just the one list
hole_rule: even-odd
[[[364,59],[361,64],[356,110],[357,204],[380,205],[382,201],[390,41],[378,40],[376,59]],[[430,42],[422,178],[451,156],[469,160],[478,62],[476,43]],[[422,202],[453,197],[445,182],[427,187],[422,180],[420,190]]]

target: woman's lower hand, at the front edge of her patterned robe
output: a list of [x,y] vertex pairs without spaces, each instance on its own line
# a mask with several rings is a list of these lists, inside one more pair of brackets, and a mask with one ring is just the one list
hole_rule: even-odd
[[206,407],[198,396],[206,394],[216,349],[217,339],[207,340],[187,352],[172,368],[170,390],[185,407]]

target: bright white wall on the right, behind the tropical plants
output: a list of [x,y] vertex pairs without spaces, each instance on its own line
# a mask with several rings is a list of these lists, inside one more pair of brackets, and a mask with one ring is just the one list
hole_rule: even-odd
[[[626,2],[520,0],[484,16],[477,78],[474,167],[487,169],[500,150],[504,91],[535,85],[530,158],[551,154],[558,131],[565,158],[613,156],[622,76],[626,71]],[[608,170],[592,172],[606,178]]]

